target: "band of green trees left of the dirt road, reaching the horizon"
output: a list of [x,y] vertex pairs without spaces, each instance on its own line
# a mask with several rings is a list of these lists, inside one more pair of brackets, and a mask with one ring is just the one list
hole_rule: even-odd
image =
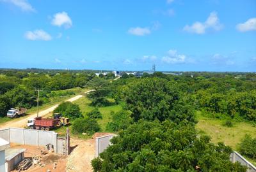
[[[93,73],[34,73],[28,71],[1,71],[0,77],[0,117],[6,115],[10,108],[31,108],[36,105],[35,89],[40,92],[40,104],[47,103],[50,97],[58,96],[52,90],[65,90],[74,87],[85,87],[95,78]],[[59,96],[74,94],[61,92]]]

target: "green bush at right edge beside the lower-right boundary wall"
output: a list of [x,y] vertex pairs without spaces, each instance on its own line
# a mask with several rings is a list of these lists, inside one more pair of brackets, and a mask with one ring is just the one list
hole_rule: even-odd
[[239,152],[242,155],[256,159],[256,138],[246,134],[241,143],[239,143]]

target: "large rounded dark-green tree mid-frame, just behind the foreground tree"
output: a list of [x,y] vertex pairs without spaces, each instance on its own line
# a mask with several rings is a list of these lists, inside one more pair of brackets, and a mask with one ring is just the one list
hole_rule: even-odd
[[167,118],[179,116],[179,118],[174,117],[173,119],[176,122],[184,119],[195,122],[191,106],[188,104],[182,106],[183,111],[186,111],[185,115],[179,108],[175,108],[182,103],[181,94],[175,83],[168,82],[168,80],[142,78],[125,85],[118,95],[127,104],[127,109],[132,111],[135,121],[140,119],[164,121]]

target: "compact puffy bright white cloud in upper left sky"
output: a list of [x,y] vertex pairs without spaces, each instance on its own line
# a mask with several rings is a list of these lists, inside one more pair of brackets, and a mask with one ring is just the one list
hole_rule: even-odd
[[56,13],[52,19],[52,25],[57,25],[61,27],[63,25],[65,28],[70,28],[72,26],[72,20],[65,11],[61,13]]

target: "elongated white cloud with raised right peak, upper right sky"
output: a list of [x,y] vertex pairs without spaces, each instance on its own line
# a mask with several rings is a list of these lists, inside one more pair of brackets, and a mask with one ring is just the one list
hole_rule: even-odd
[[222,27],[223,25],[220,23],[218,14],[212,12],[205,22],[195,22],[192,25],[185,25],[183,30],[195,34],[204,34],[209,29],[220,31]]

